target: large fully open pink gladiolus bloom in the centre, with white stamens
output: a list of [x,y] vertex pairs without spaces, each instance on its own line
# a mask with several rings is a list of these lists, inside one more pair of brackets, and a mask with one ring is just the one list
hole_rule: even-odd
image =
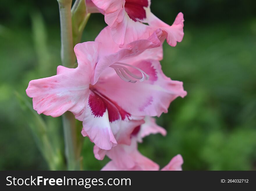
[[167,78],[159,61],[152,59],[161,58],[161,53],[147,53],[161,46],[161,30],[122,49],[109,31],[105,28],[96,42],[74,47],[77,68],[58,66],[56,76],[32,80],[26,90],[38,114],[58,117],[71,111],[83,121],[82,134],[106,150],[117,144],[115,136],[129,143],[126,134],[119,133],[121,126],[131,132],[144,122],[136,116],[161,115],[173,99],[186,95],[182,82]]

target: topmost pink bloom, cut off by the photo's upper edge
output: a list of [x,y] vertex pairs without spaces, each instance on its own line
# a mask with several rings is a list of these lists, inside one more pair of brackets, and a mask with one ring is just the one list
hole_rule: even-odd
[[168,44],[176,46],[184,36],[183,14],[179,13],[170,26],[151,13],[150,4],[150,0],[86,0],[89,12],[104,14],[113,40],[121,47],[134,40],[147,39],[158,28],[167,34]]

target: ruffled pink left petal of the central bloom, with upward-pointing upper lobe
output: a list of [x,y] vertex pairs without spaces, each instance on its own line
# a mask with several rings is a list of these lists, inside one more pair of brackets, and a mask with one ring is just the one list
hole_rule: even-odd
[[33,97],[33,108],[38,114],[58,117],[66,111],[77,115],[83,110],[99,45],[98,42],[77,44],[74,48],[78,60],[77,68],[58,66],[56,76],[29,82],[26,93]]

